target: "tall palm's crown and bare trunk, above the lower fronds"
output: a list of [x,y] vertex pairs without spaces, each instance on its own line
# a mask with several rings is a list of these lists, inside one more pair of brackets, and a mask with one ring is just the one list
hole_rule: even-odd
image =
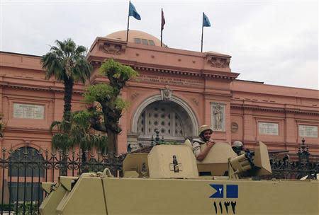
[[46,71],[46,79],[54,76],[65,85],[63,120],[69,121],[74,82],[85,83],[91,75],[92,67],[85,59],[86,47],[77,46],[70,38],[65,41],[56,40],[55,43],[57,46],[52,46],[50,52],[43,55],[41,64]]

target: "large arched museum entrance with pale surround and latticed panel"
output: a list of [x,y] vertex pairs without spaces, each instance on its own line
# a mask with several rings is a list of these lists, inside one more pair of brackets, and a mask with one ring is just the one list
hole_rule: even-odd
[[162,100],[161,95],[148,98],[135,112],[132,121],[128,144],[133,149],[150,145],[156,130],[161,138],[171,142],[184,142],[196,136],[198,130],[193,110],[174,95],[169,100]]

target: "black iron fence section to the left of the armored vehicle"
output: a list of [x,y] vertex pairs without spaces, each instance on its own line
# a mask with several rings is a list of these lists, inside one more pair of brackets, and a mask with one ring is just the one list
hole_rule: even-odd
[[1,152],[1,215],[38,214],[45,197],[41,182],[56,182],[60,175],[77,176],[104,168],[118,175],[125,156],[101,151],[37,150],[28,146]]

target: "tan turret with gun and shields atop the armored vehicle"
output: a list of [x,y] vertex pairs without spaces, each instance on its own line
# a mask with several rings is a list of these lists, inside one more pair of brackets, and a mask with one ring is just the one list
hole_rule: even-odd
[[183,145],[154,146],[148,154],[129,153],[123,162],[123,173],[124,178],[198,178],[198,175],[240,178],[269,175],[272,170],[267,146],[262,142],[254,153],[247,151],[241,156],[229,144],[216,143],[203,161],[196,161],[186,141]]

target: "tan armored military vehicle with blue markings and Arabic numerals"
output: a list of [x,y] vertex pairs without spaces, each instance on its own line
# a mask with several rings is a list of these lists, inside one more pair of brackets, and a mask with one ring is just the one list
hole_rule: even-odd
[[271,174],[267,146],[237,156],[217,143],[196,161],[190,142],[128,153],[123,178],[103,173],[43,183],[40,214],[319,214],[318,180],[259,180]]

